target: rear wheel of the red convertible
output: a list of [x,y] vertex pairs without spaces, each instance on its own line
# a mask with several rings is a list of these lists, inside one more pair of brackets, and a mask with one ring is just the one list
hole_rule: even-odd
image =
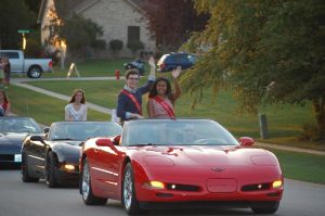
[[88,160],[84,158],[82,163],[82,176],[81,176],[81,195],[84,204],[87,205],[104,205],[107,202],[105,198],[98,198],[92,193],[91,189],[91,176],[89,170]]

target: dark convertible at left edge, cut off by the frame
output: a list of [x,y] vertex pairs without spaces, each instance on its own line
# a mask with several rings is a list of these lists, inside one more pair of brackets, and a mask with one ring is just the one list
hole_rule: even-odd
[[30,117],[0,117],[0,165],[21,165],[22,143],[28,135],[42,134],[41,127]]

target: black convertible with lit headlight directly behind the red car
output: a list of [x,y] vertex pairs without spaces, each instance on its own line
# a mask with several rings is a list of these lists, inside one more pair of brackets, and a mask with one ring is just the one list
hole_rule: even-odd
[[47,180],[50,188],[77,185],[82,143],[89,138],[120,135],[121,126],[112,122],[56,122],[43,136],[29,136],[22,148],[24,182]]

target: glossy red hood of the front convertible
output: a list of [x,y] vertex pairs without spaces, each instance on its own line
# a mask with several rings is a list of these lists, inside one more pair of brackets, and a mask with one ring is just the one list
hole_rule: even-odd
[[272,165],[276,158],[262,149],[239,147],[145,147],[138,149],[145,165]]

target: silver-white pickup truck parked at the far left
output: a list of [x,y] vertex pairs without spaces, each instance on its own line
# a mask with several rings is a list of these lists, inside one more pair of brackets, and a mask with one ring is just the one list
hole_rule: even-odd
[[0,56],[8,56],[11,73],[27,73],[30,78],[39,78],[43,72],[52,72],[51,59],[25,59],[21,50],[0,50]]

